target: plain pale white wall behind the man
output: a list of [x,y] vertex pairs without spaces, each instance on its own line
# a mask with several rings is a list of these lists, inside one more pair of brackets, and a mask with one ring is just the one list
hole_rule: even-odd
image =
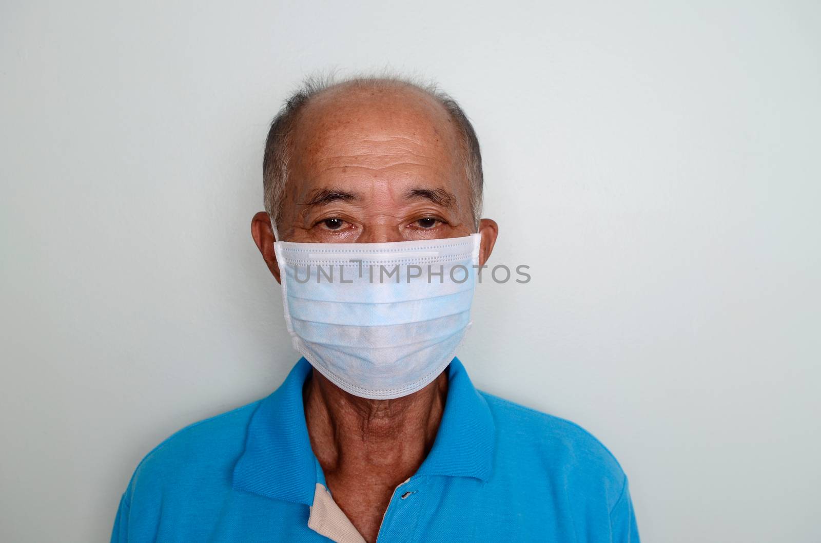
[[476,384],[579,422],[644,541],[821,541],[818,2],[2,2],[0,540],[105,541],[160,440],[296,361],[250,239],[317,69],[479,131]]

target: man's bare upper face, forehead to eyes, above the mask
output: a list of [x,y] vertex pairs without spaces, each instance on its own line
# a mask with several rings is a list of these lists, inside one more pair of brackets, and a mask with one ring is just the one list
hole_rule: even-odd
[[475,231],[456,126],[425,94],[332,89],[305,107],[293,136],[282,240],[376,243]]

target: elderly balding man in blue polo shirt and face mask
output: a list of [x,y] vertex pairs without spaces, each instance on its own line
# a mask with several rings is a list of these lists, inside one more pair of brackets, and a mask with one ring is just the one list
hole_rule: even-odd
[[638,541],[608,449],[453,357],[498,234],[482,182],[470,121],[433,87],[294,94],[251,231],[304,358],[152,450],[112,541]]

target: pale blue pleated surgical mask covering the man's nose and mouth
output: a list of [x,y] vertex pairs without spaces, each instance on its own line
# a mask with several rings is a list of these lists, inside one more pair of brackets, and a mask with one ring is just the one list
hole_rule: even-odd
[[352,395],[392,399],[422,389],[470,326],[479,240],[277,241],[294,348]]

